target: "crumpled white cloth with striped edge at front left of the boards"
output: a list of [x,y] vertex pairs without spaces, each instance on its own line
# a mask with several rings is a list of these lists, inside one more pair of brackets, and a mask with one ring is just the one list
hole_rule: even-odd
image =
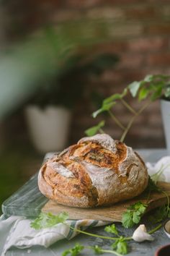
[[70,229],[70,226],[75,229],[80,229],[80,227],[86,229],[87,227],[103,226],[108,222],[93,220],[66,221],[66,224],[58,223],[53,228],[40,230],[32,229],[30,223],[30,219],[21,216],[11,216],[4,221],[0,221],[1,234],[4,230],[6,231],[6,226],[11,226],[1,256],[4,256],[12,246],[20,249],[30,248],[33,245],[49,247],[61,239],[72,239],[77,232]]

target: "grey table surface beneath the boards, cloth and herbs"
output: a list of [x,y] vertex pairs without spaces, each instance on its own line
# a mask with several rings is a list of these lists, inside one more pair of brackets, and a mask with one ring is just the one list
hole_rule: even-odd
[[[165,149],[147,149],[147,150],[136,150],[136,151],[140,153],[144,161],[149,161],[151,163],[155,163],[156,161],[158,161],[158,159],[166,155]],[[144,220],[143,222],[147,223],[147,219]],[[117,225],[117,229],[120,231],[120,234],[125,236],[131,236],[133,234],[134,229],[125,229],[122,227],[121,223],[117,223],[116,225]],[[149,228],[151,229],[152,227],[149,226]],[[100,234],[100,235],[104,235],[105,233],[104,226],[93,228],[93,229],[90,229],[89,231],[95,234]],[[136,243],[136,242],[130,241],[129,242],[130,252],[128,253],[128,255],[130,256],[135,256],[135,255],[151,256],[152,255],[153,256],[155,255],[156,249],[158,249],[158,247],[161,247],[164,244],[170,243],[170,240],[166,236],[166,234],[164,234],[163,229],[159,229],[158,231],[156,231],[156,233],[154,234],[154,238],[155,239],[153,242]],[[12,249],[9,249],[8,252],[6,252],[6,256],[9,256],[9,255],[10,256],[24,256],[24,255],[59,256],[59,255],[62,255],[63,250],[73,247],[77,242],[79,242],[80,244],[90,245],[90,246],[97,244],[99,246],[104,247],[104,249],[109,249],[109,245],[111,244],[107,240],[79,234],[78,236],[76,236],[70,241],[63,239],[62,241],[59,241],[53,244],[49,248],[44,248],[40,246],[31,247],[30,249],[12,248]],[[0,236],[0,252],[3,246],[2,243],[3,241],[1,241],[1,236]],[[84,252],[82,252],[81,255],[91,256],[91,255],[94,255],[94,252],[91,252],[89,250],[84,250]],[[104,254],[104,255],[107,256],[110,254]]]

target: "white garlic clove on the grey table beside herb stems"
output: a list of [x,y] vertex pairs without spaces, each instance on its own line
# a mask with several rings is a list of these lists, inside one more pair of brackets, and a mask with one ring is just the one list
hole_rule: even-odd
[[135,229],[135,231],[133,232],[132,238],[133,240],[135,240],[135,242],[143,242],[145,240],[149,240],[149,241],[154,240],[153,236],[147,233],[146,226],[143,224],[141,224],[140,226],[138,226],[137,229]]

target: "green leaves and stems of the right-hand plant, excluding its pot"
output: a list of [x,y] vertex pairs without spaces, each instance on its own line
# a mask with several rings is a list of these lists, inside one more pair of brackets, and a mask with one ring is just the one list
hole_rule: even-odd
[[[118,127],[122,130],[122,136],[120,141],[125,140],[126,135],[128,134],[130,128],[132,127],[135,119],[153,102],[158,98],[170,98],[170,76],[162,74],[151,74],[147,75],[144,80],[132,82],[128,85],[122,93],[115,93],[108,98],[105,98],[102,101],[102,106],[97,111],[95,111],[92,116],[96,118],[99,114],[107,112],[112,120],[117,124]],[[126,100],[128,93],[133,97],[137,98],[138,101],[144,101],[143,106],[139,110],[130,106],[130,103]],[[145,100],[148,99],[148,102]],[[120,102],[125,108],[130,111],[132,117],[128,121],[127,126],[122,124],[120,119],[117,118],[114,112],[114,107]],[[104,120],[102,121],[104,122]],[[92,136],[97,132],[101,132],[100,127],[101,122],[95,126],[87,129],[85,131],[86,135]],[[104,125],[103,125],[104,126]],[[103,127],[102,126],[102,127]],[[95,133],[94,133],[95,132]],[[102,130],[103,132],[103,130]]]

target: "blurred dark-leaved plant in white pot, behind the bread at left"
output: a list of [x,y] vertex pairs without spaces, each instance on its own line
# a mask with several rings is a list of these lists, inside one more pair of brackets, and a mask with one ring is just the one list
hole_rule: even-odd
[[84,97],[89,76],[98,76],[116,61],[117,57],[110,54],[90,58],[76,54],[61,65],[53,79],[37,90],[25,114],[30,137],[40,153],[63,150],[68,139],[71,111]]

